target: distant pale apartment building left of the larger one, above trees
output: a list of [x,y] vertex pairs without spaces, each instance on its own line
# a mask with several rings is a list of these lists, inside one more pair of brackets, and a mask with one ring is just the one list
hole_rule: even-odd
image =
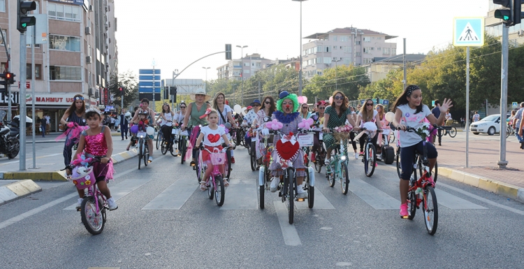
[[270,64],[270,62],[270,59],[261,57],[259,53],[246,54],[246,56],[241,59],[232,59],[229,60],[227,64],[219,66],[217,68],[217,75],[219,79],[240,80],[243,78],[247,80],[251,78],[256,71],[263,68],[265,64]]

